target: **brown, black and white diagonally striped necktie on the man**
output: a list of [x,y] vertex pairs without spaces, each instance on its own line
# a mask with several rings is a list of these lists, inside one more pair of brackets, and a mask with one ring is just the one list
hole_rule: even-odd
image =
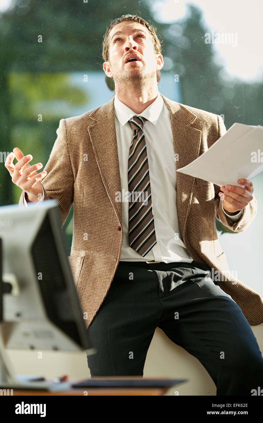
[[133,116],[128,158],[129,246],[143,257],[156,244],[147,149],[142,116]]

